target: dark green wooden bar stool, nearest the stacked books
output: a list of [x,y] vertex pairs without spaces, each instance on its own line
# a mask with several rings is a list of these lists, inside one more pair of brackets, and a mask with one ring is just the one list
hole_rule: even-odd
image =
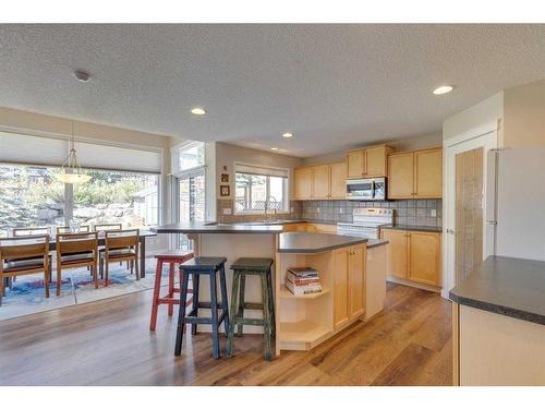
[[[241,337],[244,325],[257,325],[263,326],[265,338],[265,359],[267,361],[272,359],[271,337],[276,334],[276,328],[275,300],[272,297],[272,273],[270,269],[271,265],[271,258],[250,257],[239,258],[231,265],[231,269],[233,270],[233,289],[230,306],[231,322],[227,337],[227,357],[232,356],[234,327],[238,326],[238,336]],[[261,276],[262,278],[263,302],[261,304],[244,301],[244,290],[247,275]],[[244,309],[262,310],[263,318],[245,318]]]

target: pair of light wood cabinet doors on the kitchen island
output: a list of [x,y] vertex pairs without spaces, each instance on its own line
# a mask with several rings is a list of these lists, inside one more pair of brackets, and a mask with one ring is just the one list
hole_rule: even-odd
[[365,313],[364,244],[334,251],[334,327],[342,327]]

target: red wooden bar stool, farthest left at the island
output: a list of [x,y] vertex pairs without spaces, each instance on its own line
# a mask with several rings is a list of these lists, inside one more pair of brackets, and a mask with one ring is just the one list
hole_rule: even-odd
[[[169,305],[169,315],[174,313],[174,305],[180,304],[180,299],[174,297],[174,293],[180,292],[180,288],[182,286],[183,275],[182,272],[179,270],[180,275],[180,288],[174,288],[174,269],[177,264],[185,263],[186,261],[193,258],[193,252],[191,251],[181,251],[173,250],[167,253],[156,254],[155,258],[157,258],[157,269],[155,272],[155,286],[154,286],[154,301],[152,305],[152,321],[149,323],[149,330],[155,330],[155,326],[157,324],[157,310],[159,304],[168,304]],[[161,273],[162,273],[162,264],[168,263],[170,265],[169,270],[169,292],[167,297],[159,297],[160,288],[161,288]],[[193,293],[193,290],[187,290],[189,293]],[[185,305],[190,305],[193,302],[193,298],[189,299]]]

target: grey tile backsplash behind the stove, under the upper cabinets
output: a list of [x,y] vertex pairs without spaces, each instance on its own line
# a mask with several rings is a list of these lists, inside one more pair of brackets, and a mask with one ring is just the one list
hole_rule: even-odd
[[409,226],[443,226],[443,201],[440,199],[416,199],[407,201],[303,201],[301,217],[313,220],[352,222],[352,210],[356,207],[392,208],[393,222]]

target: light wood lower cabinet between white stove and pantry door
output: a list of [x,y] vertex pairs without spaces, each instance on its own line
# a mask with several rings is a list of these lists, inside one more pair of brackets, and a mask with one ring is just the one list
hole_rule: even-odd
[[440,287],[440,233],[415,230],[382,230],[387,245],[386,274]]

